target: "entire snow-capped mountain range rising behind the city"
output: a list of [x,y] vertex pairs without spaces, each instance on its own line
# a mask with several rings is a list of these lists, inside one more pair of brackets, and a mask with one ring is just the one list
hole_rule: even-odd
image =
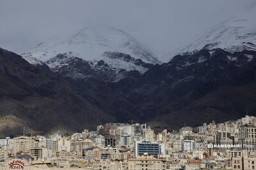
[[246,110],[255,115],[256,27],[241,18],[217,25],[163,64],[118,29],[52,38],[23,59],[0,49],[0,134],[128,120],[170,130],[237,119]]

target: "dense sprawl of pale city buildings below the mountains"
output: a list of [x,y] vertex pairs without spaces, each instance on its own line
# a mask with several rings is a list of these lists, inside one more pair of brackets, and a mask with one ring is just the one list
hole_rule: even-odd
[[[156,133],[147,124],[0,139],[0,167],[28,169],[256,169],[256,117]],[[40,132],[38,132],[40,133]],[[14,168],[15,169],[15,168]]]

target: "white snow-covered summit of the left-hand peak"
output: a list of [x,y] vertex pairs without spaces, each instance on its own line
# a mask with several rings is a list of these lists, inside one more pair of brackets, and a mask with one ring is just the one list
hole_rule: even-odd
[[[22,53],[22,57],[31,64],[45,62],[53,70],[58,70],[57,67],[68,64],[63,61],[63,57],[53,59],[58,54],[65,55],[65,60],[74,57],[83,59],[95,69],[98,68],[97,63],[104,60],[108,67],[116,72],[122,69],[144,73],[148,69],[145,67],[147,64],[160,63],[156,56],[140,45],[136,38],[114,28],[84,28],[68,38],[52,37],[48,41],[39,43],[31,52]],[[120,57],[120,54],[123,57]],[[131,59],[125,59],[125,56]],[[138,61],[143,64],[138,64]]]

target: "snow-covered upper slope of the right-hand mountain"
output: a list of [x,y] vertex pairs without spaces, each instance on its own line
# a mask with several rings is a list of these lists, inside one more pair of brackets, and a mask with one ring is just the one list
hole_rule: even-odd
[[164,55],[164,58],[172,59],[177,54],[193,53],[202,48],[221,48],[228,52],[241,52],[243,50],[256,50],[256,9],[232,17],[212,27],[204,36],[197,39],[191,45],[181,47]]

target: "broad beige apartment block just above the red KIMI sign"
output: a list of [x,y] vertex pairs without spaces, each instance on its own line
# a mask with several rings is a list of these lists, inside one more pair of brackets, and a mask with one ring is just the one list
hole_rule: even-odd
[[20,136],[13,138],[12,141],[12,153],[16,155],[18,152],[29,153],[31,149],[33,139],[26,136]]

